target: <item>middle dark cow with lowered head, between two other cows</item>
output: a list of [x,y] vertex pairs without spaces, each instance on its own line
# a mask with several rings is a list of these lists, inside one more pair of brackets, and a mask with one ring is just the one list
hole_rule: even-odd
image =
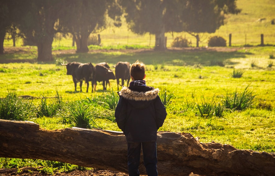
[[[103,90],[107,90],[107,84],[109,84],[109,79],[116,79],[113,71],[110,69],[106,62],[101,62],[95,65],[96,82],[101,82],[103,85]],[[95,82],[95,85],[97,84]]]

